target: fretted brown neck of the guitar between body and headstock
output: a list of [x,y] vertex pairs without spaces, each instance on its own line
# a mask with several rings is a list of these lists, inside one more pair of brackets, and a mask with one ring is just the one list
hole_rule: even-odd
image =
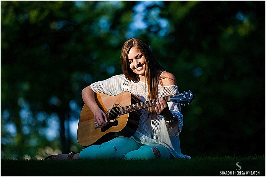
[[[164,99],[166,100],[166,102],[168,102],[168,101],[170,101],[170,96],[165,96]],[[136,103],[136,104],[129,105],[129,106],[120,107],[119,108],[119,115],[131,113],[131,112],[134,112],[137,110],[141,110],[141,109],[155,106],[157,101],[158,101],[158,98],[156,98],[154,100],[148,100],[145,102]]]

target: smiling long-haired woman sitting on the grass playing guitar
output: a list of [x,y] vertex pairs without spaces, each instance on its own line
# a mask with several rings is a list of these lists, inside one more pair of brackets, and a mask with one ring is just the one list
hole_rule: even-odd
[[142,102],[158,98],[155,107],[141,110],[136,133],[119,136],[101,145],[91,145],[80,153],[59,154],[46,159],[153,159],[190,158],[181,154],[179,133],[183,126],[180,107],[163,97],[178,92],[176,78],[155,60],[149,47],[139,38],[128,39],[121,50],[123,75],[91,84],[82,90],[85,104],[94,114],[98,128],[108,125],[106,114],[95,102],[95,93],[118,95],[129,91]]

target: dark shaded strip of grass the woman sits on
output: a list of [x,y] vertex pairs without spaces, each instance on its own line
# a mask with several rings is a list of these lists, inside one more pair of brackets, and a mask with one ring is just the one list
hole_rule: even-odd
[[[236,170],[237,162],[241,170]],[[1,176],[223,176],[220,171],[259,171],[259,176],[265,176],[265,155],[138,161],[1,160]]]

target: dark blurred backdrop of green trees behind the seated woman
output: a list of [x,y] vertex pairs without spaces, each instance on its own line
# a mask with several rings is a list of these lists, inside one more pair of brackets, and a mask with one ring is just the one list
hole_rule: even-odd
[[131,37],[195,95],[183,154],[265,154],[265,1],[1,1],[1,159],[81,150],[81,91]]

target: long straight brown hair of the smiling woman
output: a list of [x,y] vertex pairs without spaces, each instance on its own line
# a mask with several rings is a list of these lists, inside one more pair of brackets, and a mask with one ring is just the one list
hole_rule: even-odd
[[[124,43],[120,56],[122,71],[127,79],[134,82],[139,81],[138,75],[134,73],[129,67],[130,63],[128,60],[128,53],[132,47],[137,47],[138,49],[140,49],[146,59],[145,81],[148,84],[148,100],[156,99],[158,98],[157,82],[159,80],[161,72],[166,70],[155,60],[150,47],[148,47],[147,44],[142,41],[142,39],[133,37],[131,39],[128,39]],[[149,107],[148,110],[152,111],[152,115],[154,115],[154,107]]]

